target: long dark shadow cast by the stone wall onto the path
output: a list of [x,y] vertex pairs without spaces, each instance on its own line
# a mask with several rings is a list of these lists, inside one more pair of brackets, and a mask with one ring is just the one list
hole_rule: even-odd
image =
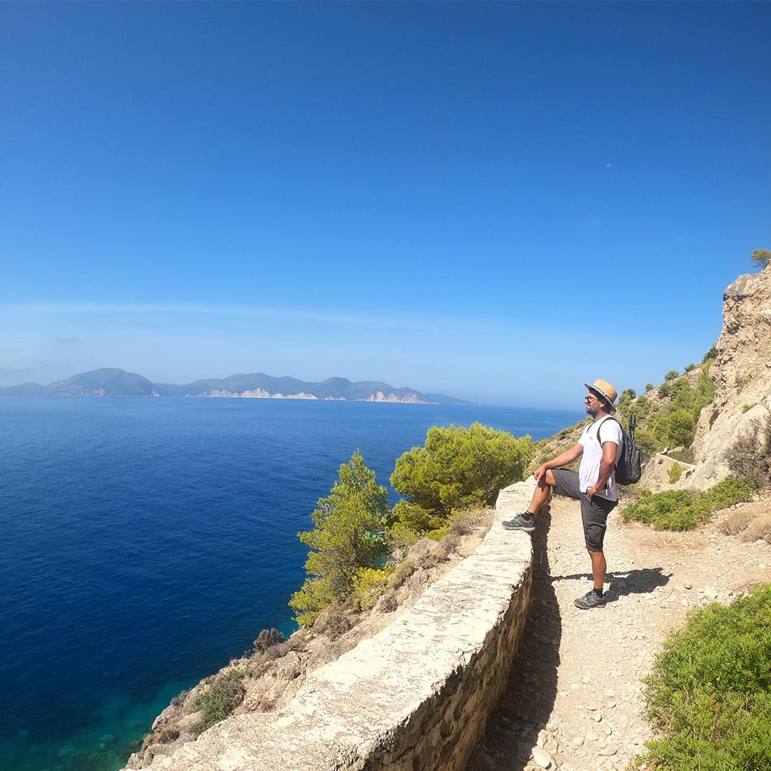
[[549,570],[550,526],[551,510],[546,506],[538,513],[532,534],[533,590],[520,651],[503,699],[490,715],[466,771],[523,771],[537,742],[538,725],[548,722],[554,708],[562,621]]

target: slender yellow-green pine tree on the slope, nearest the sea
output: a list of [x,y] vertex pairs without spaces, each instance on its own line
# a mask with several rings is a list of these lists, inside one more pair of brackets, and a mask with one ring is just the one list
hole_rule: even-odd
[[298,533],[311,547],[305,563],[310,575],[289,601],[300,625],[312,624],[328,605],[345,603],[359,572],[375,567],[388,553],[381,535],[390,512],[388,493],[375,483],[375,472],[365,466],[358,449],[340,466],[339,476],[311,514],[316,527]]

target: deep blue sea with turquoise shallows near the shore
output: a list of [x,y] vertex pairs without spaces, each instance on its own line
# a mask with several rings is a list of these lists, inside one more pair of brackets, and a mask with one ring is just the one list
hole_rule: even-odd
[[[271,399],[0,399],[0,769],[114,771],[170,699],[288,635],[298,531],[359,448],[581,412]],[[390,489],[390,488],[389,488]],[[391,490],[392,500],[397,499]]]

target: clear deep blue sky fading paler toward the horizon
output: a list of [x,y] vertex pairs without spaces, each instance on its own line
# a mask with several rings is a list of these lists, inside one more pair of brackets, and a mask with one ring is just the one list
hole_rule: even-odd
[[574,407],[771,248],[771,3],[0,4],[0,383]]

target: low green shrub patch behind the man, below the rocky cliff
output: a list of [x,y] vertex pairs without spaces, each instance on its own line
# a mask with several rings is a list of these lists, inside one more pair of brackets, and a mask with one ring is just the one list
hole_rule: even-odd
[[756,488],[740,476],[732,475],[709,490],[665,490],[641,497],[621,510],[624,522],[645,522],[655,530],[692,530],[709,520],[713,511],[726,509],[735,503],[752,500]]

